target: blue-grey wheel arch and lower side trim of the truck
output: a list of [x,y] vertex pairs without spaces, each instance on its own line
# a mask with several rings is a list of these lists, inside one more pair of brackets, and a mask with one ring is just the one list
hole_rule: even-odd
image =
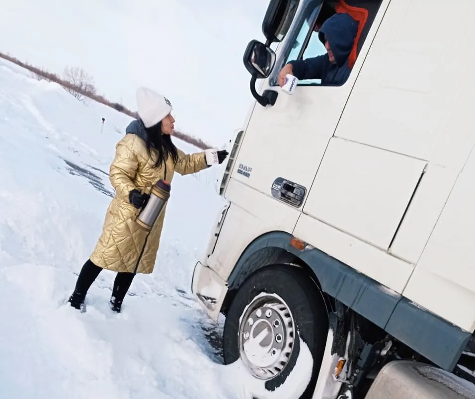
[[292,236],[272,232],[255,239],[244,250],[228,283],[239,285],[249,272],[264,266],[258,253],[271,248],[283,249],[307,263],[314,271],[323,292],[345,304],[361,316],[384,328],[439,367],[452,371],[471,334],[426,310],[410,304],[398,294],[390,294],[380,283],[348,265],[313,248],[299,251],[290,245]]

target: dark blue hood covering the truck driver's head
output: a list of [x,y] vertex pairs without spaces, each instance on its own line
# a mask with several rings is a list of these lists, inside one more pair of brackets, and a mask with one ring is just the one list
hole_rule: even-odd
[[336,65],[341,67],[353,49],[357,33],[358,22],[350,14],[339,12],[323,22],[318,32],[318,39],[323,45],[325,44],[325,38],[328,40]]

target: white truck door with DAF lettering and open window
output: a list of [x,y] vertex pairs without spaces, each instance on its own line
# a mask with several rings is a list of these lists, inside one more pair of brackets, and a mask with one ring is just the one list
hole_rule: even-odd
[[[318,33],[311,29],[319,5],[319,0],[301,1],[299,7],[304,12],[297,12],[296,30],[289,32],[281,44],[283,50],[274,71],[261,87],[261,90],[277,91],[277,100],[273,106],[263,107],[257,103],[254,106],[231,175],[267,195],[275,195],[282,189],[281,180],[276,181],[279,178],[295,182],[308,192],[356,79],[357,71],[341,86],[321,86],[319,80],[300,80],[293,95],[278,86],[280,69],[288,61],[297,59],[299,53],[304,59],[326,53]],[[307,37],[310,40],[303,50]],[[355,69],[360,64],[361,61],[357,62]]]

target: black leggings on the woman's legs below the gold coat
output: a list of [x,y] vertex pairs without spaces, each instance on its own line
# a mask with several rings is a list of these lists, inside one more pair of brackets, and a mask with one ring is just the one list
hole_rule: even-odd
[[[82,266],[81,271],[79,272],[75,291],[79,293],[79,295],[85,296],[90,286],[101,272],[101,270],[101,267],[96,266],[94,263],[92,263],[90,259],[87,259],[87,261]],[[130,288],[130,285],[132,284],[132,280],[134,279],[134,277],[134,273],[117,273],[114,280],[114,286],[112,288],[112,299],[116,303],[122,303],[125,298],[125,295],[127,294],[127,291]]]

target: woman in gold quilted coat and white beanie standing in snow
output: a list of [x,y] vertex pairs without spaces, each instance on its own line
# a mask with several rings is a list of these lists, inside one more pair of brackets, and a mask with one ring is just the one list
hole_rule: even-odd
[[[117,272],[110,299],[111,309],[120,313],[122,301],[137,273],[152,273],[157,258],[165,209],[150,233],[135,221],[146,205],[152,186],[163,179],[170,183],[174,172],[196,173],[222,163],[228,153],[216,149],[184,154],[172,143],[174,119],[171,104],[157,92],[137,90],[139,119],[126,129],[116,145],[110,166],[110,182],[115,189],[105,216],[102,234],[79,273],[68,302],[83,309],[87,290],[102,269]],[[166,205],[165,205],[166,208]]]

